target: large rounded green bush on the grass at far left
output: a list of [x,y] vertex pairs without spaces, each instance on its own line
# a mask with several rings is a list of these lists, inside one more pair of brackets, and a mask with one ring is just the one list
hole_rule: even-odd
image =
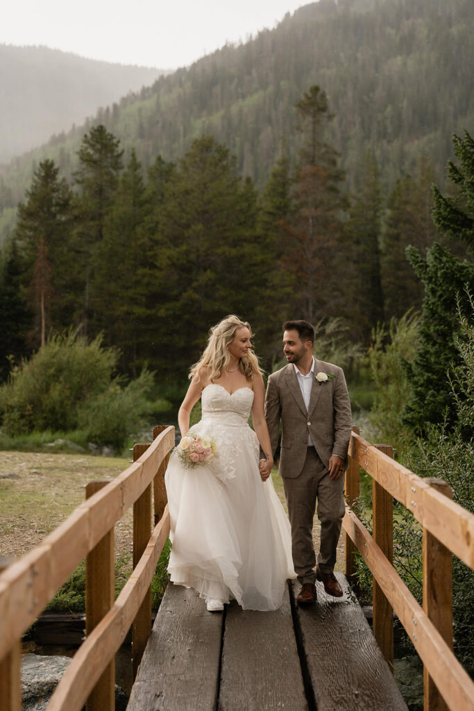
[[153,376],[144,370],[124,387],[113,375],[118,358],[119,351],[102,346],[100,336],[88,343],[77,332],[53,334],[0,387],[3,433],[80,429],[95,444],[120,449],[151,410],[146,393]]

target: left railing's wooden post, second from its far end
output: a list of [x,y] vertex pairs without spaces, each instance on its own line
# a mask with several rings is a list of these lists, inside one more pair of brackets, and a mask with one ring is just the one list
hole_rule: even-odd
[[[149,448],[149,444],[134,445],[134,461]],[[136,567],[151,537],[151,484],[134,503],[134,567]],[[136,613],[132,628],[132,673],[136,678],[146,642],[151,634],[151,586]]]

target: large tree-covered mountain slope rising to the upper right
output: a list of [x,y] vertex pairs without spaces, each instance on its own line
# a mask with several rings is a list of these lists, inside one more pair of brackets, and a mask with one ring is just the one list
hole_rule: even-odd
[[[451,134],[473,125],[472,0],[320,0],[242,46],[226,46],[190,68],[100,111],[144,167],[157,154],[176,160],[203,133],[237,156],[237,169],[262,187],[281,141],[294,159],[294,104],[312,84],[328,93],[333,136],[350,188],[372,151],[391,186],[431,158],[441,179]],[[1,171],[0,208],[13,208],[45,156],[70,177],[91,122]],[[0,228],[1,229],[1,228]]]

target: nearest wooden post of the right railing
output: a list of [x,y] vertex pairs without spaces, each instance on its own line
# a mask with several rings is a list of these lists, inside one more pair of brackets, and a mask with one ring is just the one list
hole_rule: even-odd
[[[442,479],[424,479],[436,491],[453,498],[453,490]],[[453,649],[453,572],[451,550],[423,529],[423,609]],[[423,670],[424,711],[447,711],[448,705],[441,696],[426,667]]]

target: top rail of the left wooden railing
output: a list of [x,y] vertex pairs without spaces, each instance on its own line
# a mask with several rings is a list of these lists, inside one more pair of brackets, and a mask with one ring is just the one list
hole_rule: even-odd
[[134,464],[0,575],[0,661],[81,560],[141,496],[173,446],[174,427],[167,427]]

